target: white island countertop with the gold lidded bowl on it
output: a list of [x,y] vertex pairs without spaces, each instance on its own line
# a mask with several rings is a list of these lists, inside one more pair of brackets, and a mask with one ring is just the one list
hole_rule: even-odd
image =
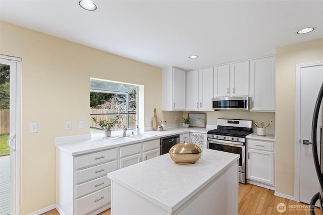
[[165,154],[108,173],[107,177],[173,212],[239,157],[237,154],[203,149],[197,163],[180,165]]

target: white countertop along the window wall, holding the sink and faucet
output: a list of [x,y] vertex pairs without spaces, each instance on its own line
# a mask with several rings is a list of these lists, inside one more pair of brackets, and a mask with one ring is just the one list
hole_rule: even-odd
[[[156,138],[161,138],[165,136],[170,136],[174,134],[183,134],[187,132],[199,132],[199,133],[207,133],[207,131],[210,129],[207,128],[184,128],[184,127],[176,127],[176,128],[170,128],[166,131],[146,131],[145,134],[153,134],[155,136],[144,138],[144,139],[133,139],[129,140],[127,142],[116,142],[109,139],[103,138],[103,133],[95,134],[95,135],[83,135],[88,137],[87,139],[81,139],[77,136],[69,136],[69,137],[58,137],[56,139],[56,147],[60,150],[63,150],[64,152],[72,155],[72,156],[78,156],[82,154],[92,153],[99,150],[107,150],[112,149],[120,146],[126,146],[129,144],[135,144],[136,142],[142,142],[142,141],[148,141]],[[82,135],[80,135],[82,136]],[[63,142],[63,143],[62,143]],[[65,142],[65,143],[64,143]]]

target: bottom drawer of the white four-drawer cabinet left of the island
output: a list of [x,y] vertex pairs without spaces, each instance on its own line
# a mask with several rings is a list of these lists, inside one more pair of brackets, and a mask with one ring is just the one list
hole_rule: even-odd
[[75,214],[87,214],[111,202],[111,186],[86,195],[75,201]]

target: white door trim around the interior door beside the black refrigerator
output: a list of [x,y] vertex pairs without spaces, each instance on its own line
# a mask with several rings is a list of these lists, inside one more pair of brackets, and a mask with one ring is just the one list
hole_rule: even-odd
[[301,94],[301,69],[305,67],[323,65],[323,61],[308,62],[296,64],[296,77],[295,77],[295,179],[294,179],[294,196],[295,201],[299,202],[300,199],[300,94]]

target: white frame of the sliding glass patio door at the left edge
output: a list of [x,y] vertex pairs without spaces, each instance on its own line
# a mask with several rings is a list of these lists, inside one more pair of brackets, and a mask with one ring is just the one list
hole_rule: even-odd
[[[10,113],[10,121],[15,121],[12,127],[10,123],[10,129],[14,132],[10,132],[10,136],[14,135],[15,153],[10,155],[10,211],[11,214],[21,213],[21,191],[20,191],[20,178],[21,178],[21,58],[7,56],[0,54],[2,60],[8,61],[8,64],[15,66],[15,74],[11,73],[10,69],[10,94],[14,93],[15,97],[10,97],[10,105],[14,104],[14,115]],[[13,81],[12,81],[13,80]],[[12,119],[13,118],[13,119]],[[13,189],[14,187],[14,189]]]

